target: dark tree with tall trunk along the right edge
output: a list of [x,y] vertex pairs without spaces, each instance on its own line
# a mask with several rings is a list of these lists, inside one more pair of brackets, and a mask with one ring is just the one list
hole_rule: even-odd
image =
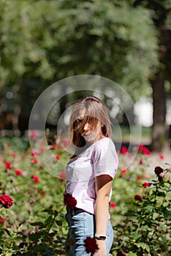
[[140,6],[145,6],[151,10],[153,23],[158,31],[159,65],[155,75],[151,78],[153,89],[152,148],[153,151],[161,151],[164,144],[168,144],[166,82],[170,82],[169,90],[171,91],[171,1],[134,1],[134,7]]

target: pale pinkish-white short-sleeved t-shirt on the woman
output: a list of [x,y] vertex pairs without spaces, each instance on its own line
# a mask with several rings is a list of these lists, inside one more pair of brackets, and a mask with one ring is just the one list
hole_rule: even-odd
[[[66,165],[66,193],[77,200],[77,208],[94,214],[96,203],[95,177],[107,174],[114,178],[118,155],[110,138],[102,138]],[[111,199],[112,189],[110,191]]]

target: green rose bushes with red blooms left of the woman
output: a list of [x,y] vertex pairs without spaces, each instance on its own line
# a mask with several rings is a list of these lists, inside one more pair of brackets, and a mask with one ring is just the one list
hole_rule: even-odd
[[[1,147],[1,194],[10,195],[14,201],[10,209],[1,209],[5,220],[4,227],[1,225],[1,255],[61,255],[66,237],[65,181],[51,176],[34,162],[35,152],[30,147],[23,148],[25,138],[11,142],[4,139]],[[66,160],[61,156],[61,148],[56,148],[54,154]]]

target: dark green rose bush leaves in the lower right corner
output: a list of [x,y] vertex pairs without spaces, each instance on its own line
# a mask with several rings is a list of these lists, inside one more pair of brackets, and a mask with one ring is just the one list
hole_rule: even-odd
[[[116,248],[133,255],[169,255],[170,167],[144,188],[142,197],[130,203],[125,219],[115,226]],[[142,198],[142,199],[141,199]],[[123,239],[121,239],[123,236]],[[131,255],[131,254],[130,254]]]

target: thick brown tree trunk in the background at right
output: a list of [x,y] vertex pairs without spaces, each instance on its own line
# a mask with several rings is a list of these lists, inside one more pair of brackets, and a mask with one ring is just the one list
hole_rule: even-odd
[[167,144],[166,125],[166,93],[164,90],[164,78],[158,73],[152,82],[153,89],[153,127],[152,150],[160,152]]

